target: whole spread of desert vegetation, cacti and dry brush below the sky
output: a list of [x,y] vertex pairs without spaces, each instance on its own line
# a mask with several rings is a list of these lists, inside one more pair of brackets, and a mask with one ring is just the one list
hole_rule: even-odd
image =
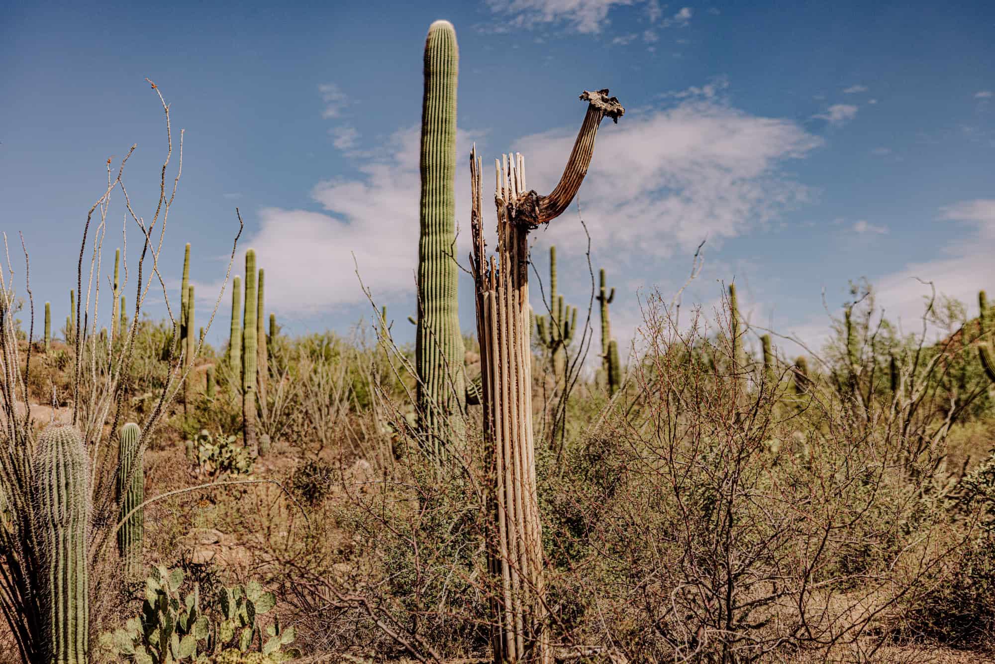
[[[995,646],[985,294],[927,288],[901,332],[858,281],[809,347],[752,324],[731,281],[713,310],[682,308],[596,280],[589,251],[590,300],[568,305],[554,247],[547,280],[530,269],[529,233],[574,213],[622,105],[581,94],[548,195],[524,155],[500,155],[497,229],[475,148],[466,261],[452,25],[432,24],[424,58],[413,344],[372,293],[350,334],[283,332],[237,210],[225,274],[202,275],[223,287],[195,318],[195,241],[178,298],[164,276],[183,138],[154,84],[157,202],[133,209],[131,152],[107,160],[61,332],[45,303],[39,338],[30,247],[10,243],[0,662],[920,662]],[[108,268],[111,210],[130,243]],[[166,318],[146,313],[153,296]],[[630,345],[616,298],[642,313]]]

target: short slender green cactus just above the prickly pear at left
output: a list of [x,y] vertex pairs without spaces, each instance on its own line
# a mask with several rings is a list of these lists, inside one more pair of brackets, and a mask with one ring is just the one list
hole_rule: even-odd
[[[145,501],[145,471],[141,445],[141,429],[134,422],[121,428],[117,446],[117,508],[118,521]],[[145,532],[145,515],[138,510],[117,531],[117,553],[120,554],[124,577],[134,580],[141,576],[141,543]]]

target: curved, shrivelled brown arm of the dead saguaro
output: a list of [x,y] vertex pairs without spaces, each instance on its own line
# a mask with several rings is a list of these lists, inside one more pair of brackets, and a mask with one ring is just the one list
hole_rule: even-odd
[[548,196],[540,196],[531,189],[507,202],[508,221],[512,224],[524,225],[530,229],[538,228],[540,224],[548,224],[563,214],[587,175],[587,167],[591,165],[591,155],[594,154],[594,138],[598,135],[601,120],[611,117],[618,124],[619,117],[625,114],[618,98],[608,97],[607,88],[593,93],[585,90],[580,95],[580,100],[588,102],[587,113],[559,182]]

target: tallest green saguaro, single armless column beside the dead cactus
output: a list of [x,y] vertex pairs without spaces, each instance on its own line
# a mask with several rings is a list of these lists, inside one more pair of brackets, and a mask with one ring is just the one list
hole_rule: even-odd
[[[456,30],[436,21],[425,39],[418,240],[417,401],[436,452],[460,437],[465,406],[456,248]],[[453,427],[456,427],[455,429]]]

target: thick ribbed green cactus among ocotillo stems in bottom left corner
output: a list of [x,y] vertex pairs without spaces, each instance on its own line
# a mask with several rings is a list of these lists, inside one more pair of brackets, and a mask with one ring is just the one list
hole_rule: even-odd
[[87,664],[90,588],[90,459],[73,426],[49,426],[32,459],[37,578],[46,664]]

